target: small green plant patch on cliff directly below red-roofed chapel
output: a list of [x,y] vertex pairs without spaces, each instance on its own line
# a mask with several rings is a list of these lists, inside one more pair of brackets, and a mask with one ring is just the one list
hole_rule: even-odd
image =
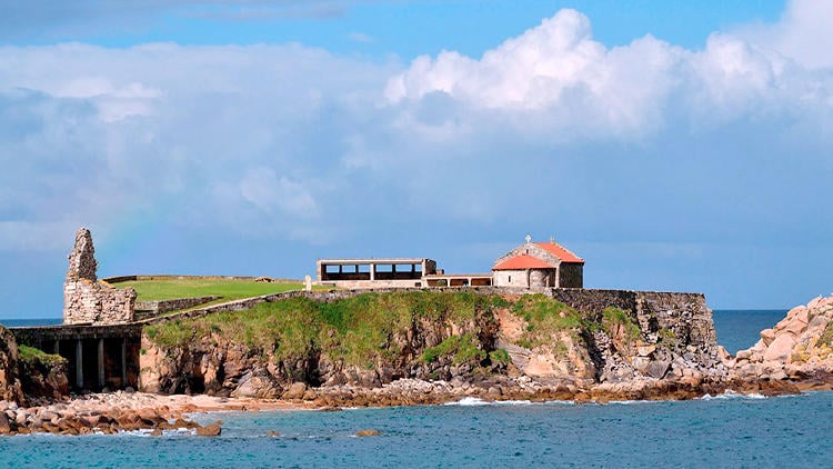
[[559,332],[566,331],[578,338],[585,326],[576,310],[543,295],[521,297],[512,306],[512,312],[528,323],[526,330],[516,341],[519,346],[528,349],[552,342],[553,335]]

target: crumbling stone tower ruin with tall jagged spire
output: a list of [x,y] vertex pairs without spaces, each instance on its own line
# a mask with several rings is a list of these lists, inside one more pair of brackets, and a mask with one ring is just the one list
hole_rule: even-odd
[[99,281],[94,253],[90,230],[79,229],[63,282],[63,323],[100,326],[132,322],[136,290],[118,289]]

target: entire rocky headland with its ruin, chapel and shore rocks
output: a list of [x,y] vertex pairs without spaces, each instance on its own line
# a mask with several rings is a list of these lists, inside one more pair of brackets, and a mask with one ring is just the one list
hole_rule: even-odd
[[731,356],[703,295],[584,289],[584,260],[554,240],[528,238],[491,275],[448,275],[425,258],[320,260],[315,286],[238,279],[272,291],[231,301],[211,292],[142,301],[119,287],[172,278],[99,280],[93,253],[79,230],[63,326],[0,330],[0,433],[161,431],[193,427],[181,417],[194,410],[690,399],[833,385],[833,297],[792,309]]

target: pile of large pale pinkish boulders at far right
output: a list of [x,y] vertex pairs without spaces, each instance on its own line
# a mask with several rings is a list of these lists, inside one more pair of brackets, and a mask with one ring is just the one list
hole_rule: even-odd
[[791,309],[761,340],[726,360],[741,380],[785,380],[802,387],[830,387],[833,381],[833,296]]

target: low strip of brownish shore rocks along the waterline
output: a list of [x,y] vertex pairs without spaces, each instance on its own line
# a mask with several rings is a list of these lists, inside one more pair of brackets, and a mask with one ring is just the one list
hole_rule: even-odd
[[[307,388],[298,383],[288,399],[160,396],[144,392],[92,393],[72,399],[43,401],[19,407],[0,401],[0,435],[53,433],[63,436],[113,435],[147,430],[151,436],[188,431],[219,436],[222,421],[201,426],[191,416],[213,411],[318,410],[359,407],[443,405],[466,398],[482,401],[571,401],[606,403],[631,400],[686,400],[726,392],[783,396],[805,390],[833,390],[833,377],[816,376],[797,382],[783,380],[680,382],[643,379],[584,387],[581,382],[544,383],[529,377],[480,382],[401,379],[381,388],[334,386]],[[273,432],[274,433],[274,432]],[[271,435],[271,433],[270,433]],[[277,436],[274,433],[273,436]]]

